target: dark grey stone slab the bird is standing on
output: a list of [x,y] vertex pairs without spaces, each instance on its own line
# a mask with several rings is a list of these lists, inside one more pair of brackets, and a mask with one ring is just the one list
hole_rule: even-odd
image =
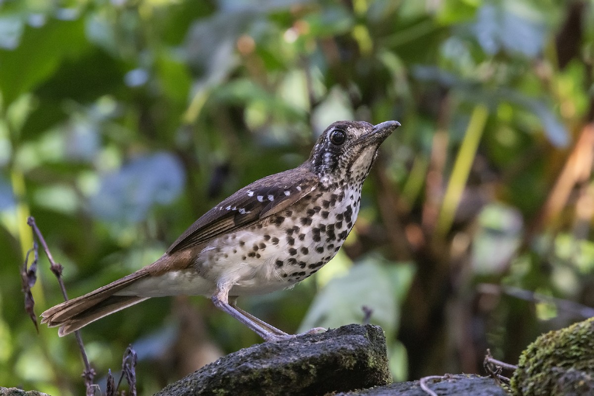
[[168,385],[156,396],[324,395],[390,382],[381,328],[347,325],[242,349]]

